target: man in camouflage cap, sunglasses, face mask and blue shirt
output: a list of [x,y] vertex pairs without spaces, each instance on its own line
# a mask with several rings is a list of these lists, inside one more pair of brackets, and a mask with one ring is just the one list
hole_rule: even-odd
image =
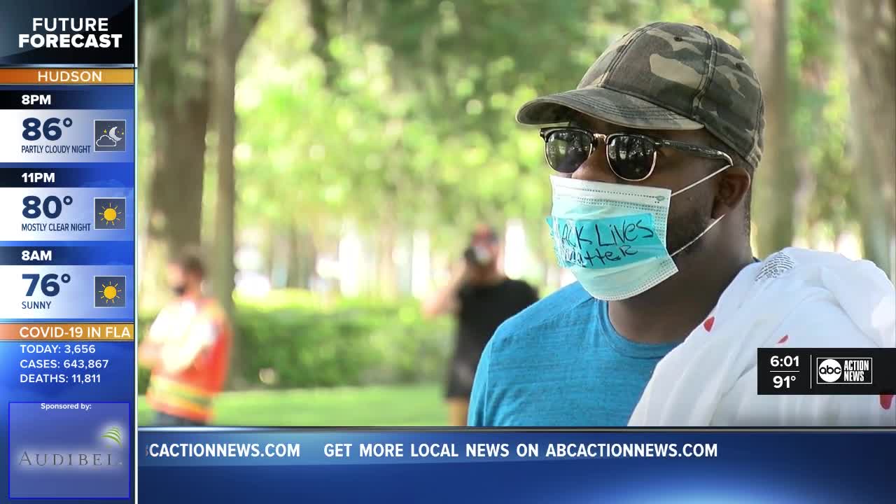
[[547,232],[578,282],[498,328],[471,425],[896,424],[892,395],[756,393],[757,348],[896,346],[893,285],[870,262],[754,258],[762,112],[736,48],[666,22],[521,107],[521,123],[551,125]]

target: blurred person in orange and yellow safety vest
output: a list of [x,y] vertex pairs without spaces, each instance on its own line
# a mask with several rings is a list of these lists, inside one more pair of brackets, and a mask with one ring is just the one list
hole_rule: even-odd
[[151,369],[146,396],[159,426],[205,425],[212,400],[228,375],[230,326],[226,313],[202,292],[205,268],[194,251],[168,265],[175,298],[159,312],[138,350]]

